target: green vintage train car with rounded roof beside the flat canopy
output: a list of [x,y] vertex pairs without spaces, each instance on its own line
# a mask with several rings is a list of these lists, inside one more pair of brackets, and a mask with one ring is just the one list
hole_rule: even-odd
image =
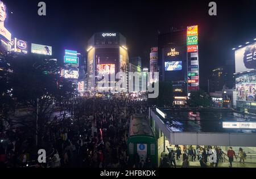
[[131,118],[127,146],[132,164],[135,164],[135,158],[138,156],[139,162],[144,160],[145,163],[147,157],[149,157],[151,167],[158,167],[156,138],[143,114],[134,114],[133,118]]

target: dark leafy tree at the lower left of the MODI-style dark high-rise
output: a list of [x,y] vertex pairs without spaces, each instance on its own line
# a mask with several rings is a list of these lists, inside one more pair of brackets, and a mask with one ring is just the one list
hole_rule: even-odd
[[160,107],[172,106],[174,101],[174,93],[171,82],[159,82],[159,95],[155,99],[148,99],[150,105],[158,105]]

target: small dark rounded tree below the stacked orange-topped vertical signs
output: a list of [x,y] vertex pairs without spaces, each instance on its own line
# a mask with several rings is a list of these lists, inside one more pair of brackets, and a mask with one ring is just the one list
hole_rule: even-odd
[[191,91],[191,95],[187,100],[187,104],[191,107],[208,107],[210,106],[210,99],[209,96],[204,92],[204,90],[199,91]]

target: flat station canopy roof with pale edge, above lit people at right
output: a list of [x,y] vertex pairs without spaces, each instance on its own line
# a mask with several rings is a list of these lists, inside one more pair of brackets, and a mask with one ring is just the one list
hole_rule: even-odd
[[230,111],[152,108],[150,123],[174,145],[256,147],[256,118]]

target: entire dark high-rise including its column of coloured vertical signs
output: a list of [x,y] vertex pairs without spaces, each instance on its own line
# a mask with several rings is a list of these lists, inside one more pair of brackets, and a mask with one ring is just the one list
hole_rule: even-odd
[[199,90],[198,26],[172,29],[158,36],[159,79],[172,82],[174,104],[183,105],[188,93]]

